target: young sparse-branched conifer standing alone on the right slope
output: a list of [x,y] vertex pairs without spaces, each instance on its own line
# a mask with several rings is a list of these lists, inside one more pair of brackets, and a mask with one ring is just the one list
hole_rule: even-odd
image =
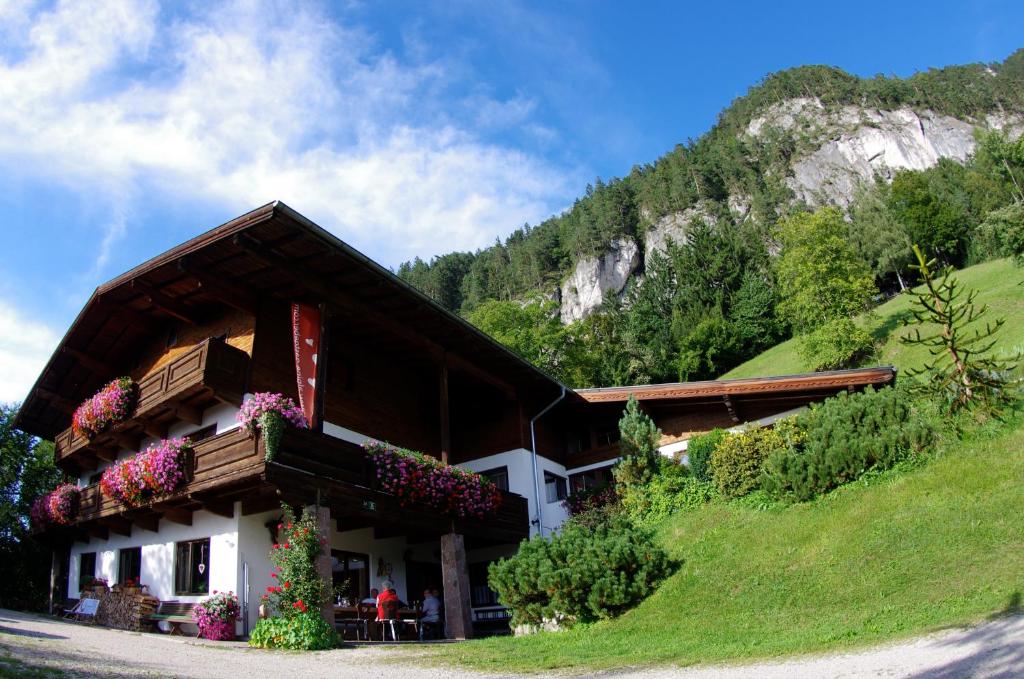
[[992,356],[990,351],[1006,319],[986,321],[984,328],[968,328],[988,311],[988,305],[975,305],[978,291],[962,288],[959,281],[952,278],[951,266],[934,272],[935,260],[925,259],[916,245],[913,254],[918,264],[911,268],[920,273],[925,290],[914,293],[911,312],[919,325],[938,328],[924,335],[921,328],[914,328],[912,334],[900,338],[904,344],[926,347],[934,356],[924,368],[908,370],[907,374],[926,377],[928,388],[945,397],[950,411],[979,402],[991,405],[1005,397],[1007,375],[1016,367],[1016,356],[1007,360]]

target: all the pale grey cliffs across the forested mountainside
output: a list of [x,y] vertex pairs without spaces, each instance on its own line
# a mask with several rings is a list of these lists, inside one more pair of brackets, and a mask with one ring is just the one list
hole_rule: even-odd
[[[826,109],[815,98],[795,98],[775,104],[748,125],[743,134],[756,141],[769,130],[791,135],[797,153],[784,168],[785,184],[797,201],[811,206],[846,208],[857,184],[874,176],[891,179],[899,170],[925,170],[941,158],[965,162],[975,150],[976,128],[1002,129],[1011,136],[1024,132],[1024,117],[988,116],[959,120],[909,108],[894,111],[841,107]],[[752,144],[754,145],[754,144]],[[651,224],[640,247],[630,239],[616,239],[600,257],[577,262],[561,288],[561,321],[585,319],[608,295],[621,295],[630,278],[655,252],[665,252],[669,241],[683,243],[694,219],[715,224],[714,205],[698,204],[666,215],[643,213]],[[727,207],[733,217],[749,217],[749,196],[730,195]]]

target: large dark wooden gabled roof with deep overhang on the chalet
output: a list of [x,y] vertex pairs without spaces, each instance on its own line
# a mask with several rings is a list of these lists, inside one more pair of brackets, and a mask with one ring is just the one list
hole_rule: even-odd
[[[355,293],[355,294],[348,294]],[[389,270],[283,203],[209,230],[105,283],[60,340],[15,426],[51,439],[105,380],[130,367],[140,344],[170,321],[199,323],[224,305],[256,312],[262,299],[329,300],[368,341],[450,353],[466,370],[557,394],[557,380],[439,306]],[[357,323],[355,323],[357,322]],[[120,373],[123,374],[123,373]]]

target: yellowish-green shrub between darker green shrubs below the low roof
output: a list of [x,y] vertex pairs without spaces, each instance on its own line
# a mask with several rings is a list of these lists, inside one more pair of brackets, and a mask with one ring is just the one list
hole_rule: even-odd
[[739,498],[761,483],[761,470],[768,456],[800,442],[802,432],[794,420],[780,420],[773,427],[729,434],[711,456],[712,476],[719,493]]

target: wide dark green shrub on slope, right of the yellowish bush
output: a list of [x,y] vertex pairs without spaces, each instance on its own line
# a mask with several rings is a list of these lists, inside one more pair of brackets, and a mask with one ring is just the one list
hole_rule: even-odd
[[934,432],[910,402],[901,389],[868,387],[813,406],[798,418],[803,443],[769,455],[763,487],[776,498],[808,500],[923,451]]

